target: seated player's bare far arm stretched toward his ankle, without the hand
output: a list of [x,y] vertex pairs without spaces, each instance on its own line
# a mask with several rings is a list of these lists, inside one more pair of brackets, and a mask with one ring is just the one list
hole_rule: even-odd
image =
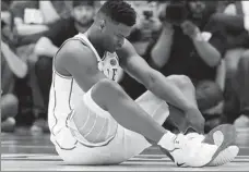
[[194,107],[178,87],[169,83],[162,73],[152,69],[128,40],[124,40],[122,48],[116,52],[120,57],[122,69],[154,95],[185,112]]

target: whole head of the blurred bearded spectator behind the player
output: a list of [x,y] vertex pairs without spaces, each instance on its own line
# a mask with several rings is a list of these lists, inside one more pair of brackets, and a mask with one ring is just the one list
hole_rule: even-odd
[[95,15],[94,1],[74,0],[72,2],[72,16],[78,24],[81,26],[87,26],[93,23]]

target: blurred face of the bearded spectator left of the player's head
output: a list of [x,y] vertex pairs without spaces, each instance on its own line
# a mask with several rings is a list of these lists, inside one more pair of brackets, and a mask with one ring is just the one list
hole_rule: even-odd
[[81,25],[87,25],[93,21],[95,9],[91,5],[78,5],[73,10],[74,20]]

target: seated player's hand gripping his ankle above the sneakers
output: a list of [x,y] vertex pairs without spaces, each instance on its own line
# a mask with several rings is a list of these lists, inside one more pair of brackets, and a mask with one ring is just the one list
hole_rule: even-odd
[[190,108],[185,112],[187,130],[185,132],[197,132],[204,134],[205,119],[197,108]]

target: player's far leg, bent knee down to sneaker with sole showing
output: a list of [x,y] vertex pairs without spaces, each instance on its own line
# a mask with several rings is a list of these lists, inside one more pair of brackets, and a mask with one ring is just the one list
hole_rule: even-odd
[[[171,75],[167,77],[168,82],[171,82],[177,87],[180,88],[182,94],[189,99],[190,102],[192,102],[197,107],[197,99],[195,99],[195,88],[192,84],[192,82],[183,75]],[[178,110],[175,107],[169,108],[170,111],[170,119],[175,122],[175,124],[178,126],[180,132],[186,132],[190,126],[186,122],[187,120],[185,115],[182,115],[182,111]],[[202,118],[202,116],[200,116]],[[227,131],[226,131],[227,130]],[[232,161],[238,153],[238,147],[237,146],[230,146],[235,145],[235,130],[232,126],[217,126],[213,131],[211,131],[208,135],[210,137],[213,135],[215,131],[222,131],[223,134],[226,134],[224,138],[227,140],[224,140],[224,144],[220,146],[220,150],[223,149],[220,155],[210,163],[210,165],[220,165],[224,164],[226,162]],[[203,136],[198,136],[204,138]],[[208,138],[209,139],[209,138]],[[208,139],[204,139],[204,142],[209,142]],[[228,148],[227,148],[228,147]]]

